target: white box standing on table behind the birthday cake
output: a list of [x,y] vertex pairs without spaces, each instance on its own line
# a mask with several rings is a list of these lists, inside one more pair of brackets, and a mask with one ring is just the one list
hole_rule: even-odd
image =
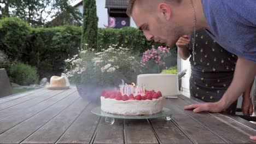
[[137,76],[137,85],[146,89],[161,91],[162,96],[178,96],[178,75],[176,74],[142,74]]

